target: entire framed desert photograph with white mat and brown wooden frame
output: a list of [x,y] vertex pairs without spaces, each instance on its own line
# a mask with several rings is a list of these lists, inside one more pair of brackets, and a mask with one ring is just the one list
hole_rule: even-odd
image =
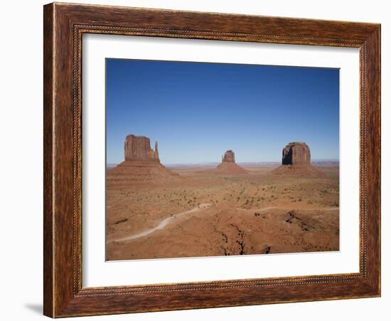
[[44,314],[380,296],[380,25],[44,6]]

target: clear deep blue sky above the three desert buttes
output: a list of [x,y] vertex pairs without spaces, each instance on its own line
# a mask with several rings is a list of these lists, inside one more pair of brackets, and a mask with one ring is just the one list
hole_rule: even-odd
[[304,141],[311,158],[339,158],[339,70],[313,67],[106,60],[107,163],[124,138],[159,142],[164,164],[280,161]]

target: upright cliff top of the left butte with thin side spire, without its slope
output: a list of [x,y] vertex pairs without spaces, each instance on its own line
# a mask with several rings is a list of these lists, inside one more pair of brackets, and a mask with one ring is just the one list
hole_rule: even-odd
[[159,160],[158,143],[155,143],[155,150],[151,148],[148,137],[128,135],[124,144],[125,160]]

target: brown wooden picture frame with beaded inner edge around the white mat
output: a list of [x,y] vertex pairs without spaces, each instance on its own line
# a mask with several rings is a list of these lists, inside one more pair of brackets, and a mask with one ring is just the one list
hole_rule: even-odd
[[[380,25],[115,6],[44,6],[44,314],[105,315],[380,296]],[[83,33],[360,49],[360,272],[82,287]]]

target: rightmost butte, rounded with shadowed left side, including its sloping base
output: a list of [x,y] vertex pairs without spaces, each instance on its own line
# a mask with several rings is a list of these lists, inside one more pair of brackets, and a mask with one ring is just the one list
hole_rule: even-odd
[[306,143],[289,143],[282,149],[282,165],[273,170],[276,175],[322,177],[318,168],[311,165],[311,151]]

